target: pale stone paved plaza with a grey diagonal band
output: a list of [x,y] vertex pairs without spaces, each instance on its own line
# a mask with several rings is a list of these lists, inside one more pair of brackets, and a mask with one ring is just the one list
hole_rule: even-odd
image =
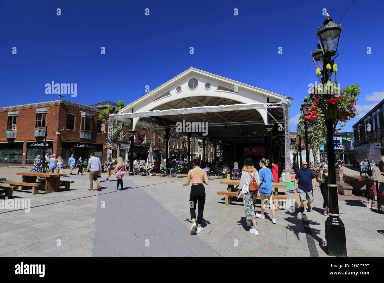
[[[30,169],[2,167],[0,178],[18,181],[16,172],[23,171]],[[217,191],[226,186],[210,180],[204,230],[190,235],[185,178],[124,176],[125,190],[118,191],[116,178],[108,183],[103,175],[101,191],[93,192],[86,175],[65,179],[75,182],[70,191],[14,191],[14,199],[31,199],[31,210],[0,210],[1,256],[327,256],[319,188],[307,216],[279,209],[272,224],[267,210],[265,219],[257,219],[255,236],[248,232],[242,202],[225,206]],[[287,192],[293,199],[293,189]],[[339,209],[348,256],[384,256],[384,214],[356,196],[339,196]],[[260,212],[260,201],[255,210]]]

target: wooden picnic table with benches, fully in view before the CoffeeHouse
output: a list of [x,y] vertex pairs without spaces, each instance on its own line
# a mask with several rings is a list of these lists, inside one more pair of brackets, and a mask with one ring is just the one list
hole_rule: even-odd
[[[56,173],[42,173],[42,172],[19,172],[16,175],[22,176],[22,183],[36,183],[36,178],[45,178],[45,193],[52,193],[60,189],[60,177],[67,176],[67,174]],[[13,181],[5,181],[7,184],[12,184]],[[22,190],[31,189],[31,186],[22,186]]]

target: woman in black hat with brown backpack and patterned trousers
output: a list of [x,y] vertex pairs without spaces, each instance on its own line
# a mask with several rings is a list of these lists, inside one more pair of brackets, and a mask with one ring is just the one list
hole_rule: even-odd
[[249,230],[249,233],[258,235],[259,231],[257,229],[256,224],[256,216],[255,216],[255,206],[253,204],[253,196],[252,194],[256,194],[257,191],[250,191],[250,183],[252,183],[254,180],[256,181],[257,185],[260,184],[259,174],[255,167],[253,166],[252,159],[247,157],[244,159],[244,166],[241,174],[240,179],[240,185],[238,190],[238,196],[240,194],[243,194],[243,202],[244,202],[244,209],[245,209],[245,217],[247,221],[247,226],[250,226],[249,221],[252,221],[253,228]]

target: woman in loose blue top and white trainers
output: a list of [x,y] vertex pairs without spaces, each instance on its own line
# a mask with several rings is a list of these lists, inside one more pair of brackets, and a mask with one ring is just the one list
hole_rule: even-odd
[[259,178],[260,178],[260,186],[259,186],[259,194],[260,194],[260,201],[262,203],[262,213],[256,213],[257,218],[264,219],[264,210],[265,210],[265,203],[264,199],[268,196],[269,197],[269,204],[272,211],[272,223],[276,224],[275,219],[275,206],[276,204],[273,203],[272,199],[272,182],[273,182],[273,175],[271,169],[269,169],[268,166],[269,160],[268,159],[260,159],[259,165],[262,167],[259,170]]

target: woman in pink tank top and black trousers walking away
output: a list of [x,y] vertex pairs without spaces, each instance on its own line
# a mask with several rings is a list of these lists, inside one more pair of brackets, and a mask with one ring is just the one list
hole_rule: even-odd
[[[203,211],[205,204],[205,188],[204,184],[209,185],[209,180],[207,176],[207,172],[204,169],[200,168],[200,157],[195,157],[192,161],[195,164],[194,169],[189,170],[188,178],[183,186],[188,186],[190,180],[192,179],[192,186],[189,198],[189,208],[192,219],[192,226],[190,229],[191,234],[195,234],[196,228],[197,232],[203,231],[203,227],[201,227],[201,223],[203,220]],[[196,204],[199,201],[199,206],[197,208],[197,225],[196,225]]]

